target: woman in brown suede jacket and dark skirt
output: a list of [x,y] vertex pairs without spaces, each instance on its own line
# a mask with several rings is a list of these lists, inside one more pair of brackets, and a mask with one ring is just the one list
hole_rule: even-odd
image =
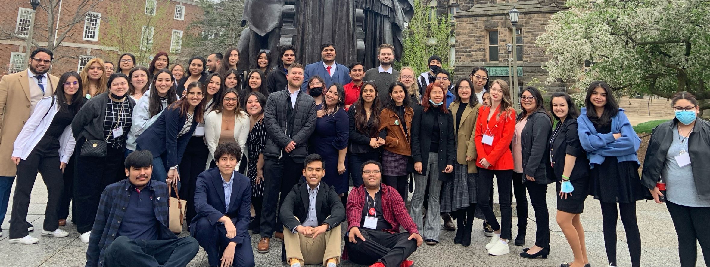
[[385,139],[382,177],[384,183],[396,188],[407,203],[407,176],[414,169],[410,147],[414,109],[404,84],[399,81],[390,86],[389,95],[380,114],[380,137]]

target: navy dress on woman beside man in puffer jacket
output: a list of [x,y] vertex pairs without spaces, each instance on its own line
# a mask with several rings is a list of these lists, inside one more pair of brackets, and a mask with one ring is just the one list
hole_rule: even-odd
[[[321,109],[322,106],[317,106]],[[338,194],[348,191],[348,171],[338,174],[338,151],[348,146],[348,131],[350,120],[344,108],[339,108],[333,114],[318,118],[315,132],[308,140],[308,153],[320,154],[325,161],[325,176],[323,180],[335,188]],[[348,166],[345,162],[345,166]]]

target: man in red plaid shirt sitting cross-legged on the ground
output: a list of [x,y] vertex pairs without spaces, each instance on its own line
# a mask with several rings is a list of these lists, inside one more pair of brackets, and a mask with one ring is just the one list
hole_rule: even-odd
[[[343,259],[370,267],[410,267],[408,256],[422,245],[404,200],[391,186],[382,184],[382,165],[362,164],[364,184],[353,188],[348,197]],[[400,225],[407,232],[399,232]]]

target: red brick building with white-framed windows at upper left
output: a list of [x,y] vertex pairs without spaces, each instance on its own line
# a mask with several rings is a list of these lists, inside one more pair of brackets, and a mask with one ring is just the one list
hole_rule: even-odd
[[[48,5],[50,0],[41,0],[40,4]],[[57,0],[52,0],[57,1]],[[61,35],[65,25],[75,21],[77,6],[82,0],[62,0],[55,8],[53,20],[48,19],[48,12],[43,8],[37,8],[35,14],[35,28],[33,39],[40,47],[48,45],[48,23],[58,25],[57,34]],[[195,18],[202,16],[202,10],[198,1],[195,0],[90,0],[89,5],[97,3],[87,16],[80,17],[82,21],[76,23],[65,39],[53,51],[55,61],[50,72],[56,76],[64,72],[80,71],[86,62],[93,57],[101,57],[118,64],[118,57],[123,52],[131,52],[135,55],[145,55],[145,58],[138,61],[149,61],[155,52],[169,52],[171,62],[180,58],[182,48],[182,36],[186,34],[187,26]],[[27,35],[32,6],[28,1],[0,0],[0,5],[5,8],[0,9],[0,17],[6,18],[0,22],[0,27],[9,30],[17,35]],[[63,8],[63,9],[62,9]],[[131,9],[132,8],[132,9]],[[80,12],[84,14],[87,8]],[[131,10],[131,13],[126,12]],[[129,13],[129,14],[127,14]],[[145,43],[140,48],[131,49],[130,45],[125,45],[126,40],[117,34],[119,25],[127,23],[141,23],[146,21],[146,25],[137,25],[139,30],[126,30],[126,40],[137,39],[137,42]],[[126,23],[126,24],[122,24]],[[158,31],[159,27],[159,32]],[[142,28],[142,29],[141,29]],[[111,31],[109,33],[109,31]],[[123,33],[123,32],[121,32]],[[154,36],[166,36],[160,40],[153,40]],[[25,40],[5,37],[0,40],[0,76],[9,73],[19,72],[27,68],[25,60]],[[56,40],[56,38],[55,38]],[[155,42],[155,43],[154,43]],[[34,49],[34,47],[32,48]],[[134,51],[138,50],[138,51]]]

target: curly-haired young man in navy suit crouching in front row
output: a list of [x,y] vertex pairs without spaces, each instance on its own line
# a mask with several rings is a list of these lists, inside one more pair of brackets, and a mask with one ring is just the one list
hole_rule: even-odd
[[[214,151],[217,168],[197,176],[195,211],[190,235],[207,252],[209,266],[253,267],[249,208],[251,182],[234,171],[241,159],[239,144],[226,143]],[[222,261],[222,264],[220,264]]]

